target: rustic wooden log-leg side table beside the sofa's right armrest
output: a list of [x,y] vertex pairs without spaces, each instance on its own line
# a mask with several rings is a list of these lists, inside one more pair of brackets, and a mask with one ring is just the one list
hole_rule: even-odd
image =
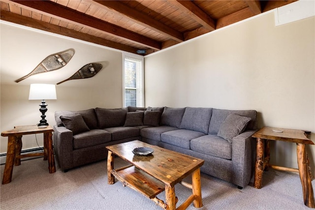
[[[257,189],[261,188],[262,174],[268,167],[277,170],[298,172],[302,182],[304,204],[309,208],[315,208],[312,173],[309,166],[310,160],[305,150],[307,144],[314,145],[314,143],[306,137],[305,132],[295,129],[263,127],[254,133],[252,137],[257,140],[254,187]],[[298,169],[270,165],[269,140],[296,143]]]

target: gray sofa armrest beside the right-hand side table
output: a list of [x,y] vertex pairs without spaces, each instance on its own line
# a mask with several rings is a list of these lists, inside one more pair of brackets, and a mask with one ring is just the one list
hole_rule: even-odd
[[246,130],[232,139],[233,182],[245,187],[252,178],[252,135],[257,130]]

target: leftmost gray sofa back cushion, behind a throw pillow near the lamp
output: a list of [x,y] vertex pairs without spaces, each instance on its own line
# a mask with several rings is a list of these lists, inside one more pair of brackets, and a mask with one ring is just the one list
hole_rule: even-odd
[[88,110],[82,110],[82,111],[56,111],[55,112],[55,120],[57,123],[57,126],[63,126],[63,122],[60,119],[60,116],[72,116],[75,114],[80,114],[85,121],[85,123],[88,125],[90,130],[97,128],[97,118],[95,114],[94,109],[88,109]]

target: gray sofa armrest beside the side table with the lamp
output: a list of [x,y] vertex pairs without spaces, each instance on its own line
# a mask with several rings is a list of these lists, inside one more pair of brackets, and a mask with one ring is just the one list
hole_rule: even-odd
[[73,167],[72,131],[54,125],[54,149],[60,168],[64,171]]

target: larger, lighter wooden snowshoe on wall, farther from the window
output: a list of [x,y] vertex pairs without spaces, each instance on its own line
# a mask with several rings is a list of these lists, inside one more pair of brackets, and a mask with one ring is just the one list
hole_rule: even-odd
[[74,55],[73,49],[68,49],[66,51],[56,53],[45,58],[41,63],[39,63],[34,70],[28,75],[15,80],[16,83],[21,82],[22,80],[38,73],[44,73],[48,71],[54,71],[65,66]]

